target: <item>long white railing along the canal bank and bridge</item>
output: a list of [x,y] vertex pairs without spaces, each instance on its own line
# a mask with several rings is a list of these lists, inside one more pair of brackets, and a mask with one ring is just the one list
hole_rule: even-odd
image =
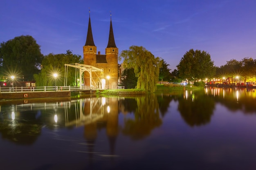
[[[49,92],[49,91],[83,91],[83,90],[97,90],[99,88],[94,86],[43,86],[43,87],[0,87],[0,93],[22,93],[22,92]],[[106,86],[105,89],[124,89],[124,86]]]

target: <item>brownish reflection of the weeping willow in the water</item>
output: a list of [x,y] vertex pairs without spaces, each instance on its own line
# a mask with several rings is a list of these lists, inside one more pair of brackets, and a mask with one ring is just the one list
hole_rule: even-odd
[[151,130],[162,124],[162,120],[159,117],[159,106],[155,94],[136,97],[135,99],[138,106],[134,113],[135,118],[125,120],[122,132],[132,139],[138,140],[148,136]]

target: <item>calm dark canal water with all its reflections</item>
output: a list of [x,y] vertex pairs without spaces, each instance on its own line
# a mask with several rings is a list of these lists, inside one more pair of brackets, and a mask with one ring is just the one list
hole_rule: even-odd
[[1,170],[255,170],[256,91],[0,102]]

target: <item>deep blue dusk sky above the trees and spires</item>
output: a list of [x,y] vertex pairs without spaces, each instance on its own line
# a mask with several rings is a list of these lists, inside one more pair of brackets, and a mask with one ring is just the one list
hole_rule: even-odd
[[97,51],[115,43],[144,46],[176,69],[189,49],[207,51],[216,66],[256,59],[255,0],[1,0],[0,42],[31,35],[44,55],[83,56],[89,8]]

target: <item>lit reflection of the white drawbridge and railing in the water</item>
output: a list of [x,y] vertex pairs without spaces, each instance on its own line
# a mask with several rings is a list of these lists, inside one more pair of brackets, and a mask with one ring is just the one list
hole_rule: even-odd
[[[104,115],[110,113],[110,106],[106,103],[106,97],[84,98],[72,100],[69,102],[55,103],[29,103],[22,105],[13,105],[13,114],[34,110],[47,110],[47,113],[53,114],[55,122],[65,126],[84,126],[96,122],[103,118]],[[0,105],[1,111],[1,105]],[[65,115],[65,116],[64,116]],[[65,117],[65,119],[64,119]],[[63,121],[59,121],[63,120]]]

